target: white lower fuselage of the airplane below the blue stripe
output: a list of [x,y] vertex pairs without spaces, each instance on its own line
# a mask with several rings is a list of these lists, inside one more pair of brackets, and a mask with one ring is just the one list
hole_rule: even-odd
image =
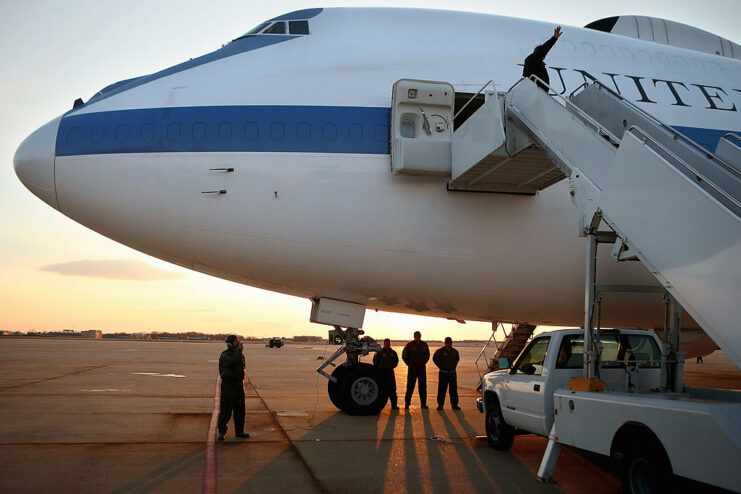
[[[58,157],[57,190],[64,214],[114,240],[252,286],[443,317],[582,318],[584,246],[564,184],[460,194],[393,177],[387,155],[147,153]],[[601,262],[606,283],[651,283],[640,265],[618,279]],[[619,298],[603,323],[661,324],[660,303]]]

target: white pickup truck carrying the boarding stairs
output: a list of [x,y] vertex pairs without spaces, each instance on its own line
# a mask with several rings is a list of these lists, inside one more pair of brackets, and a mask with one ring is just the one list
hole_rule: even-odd
[[508,450],[521,433],[548,437],[544,479],[566,444],[620,461],[626,492],[663,492],[674,475],[741,492],[741,393],[664,391],[652,332],[603,330],[600,342],[603,392],[569,389],[583,375],[583,330],[541,333],[513,364],[501,359],[477,403],[489,445]]

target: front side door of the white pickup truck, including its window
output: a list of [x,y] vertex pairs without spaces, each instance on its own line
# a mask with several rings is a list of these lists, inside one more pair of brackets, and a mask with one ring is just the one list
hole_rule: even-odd
[[544,362],[550,336],[535,338],[515,361],[504,385],[502,412],[508,424],[536,434],[545,430]]

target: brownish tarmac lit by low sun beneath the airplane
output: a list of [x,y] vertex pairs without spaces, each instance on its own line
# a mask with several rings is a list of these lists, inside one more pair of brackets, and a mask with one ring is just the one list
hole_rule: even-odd
[[[245,346],[246,440],[214,442],[223,343],[0,340],[0,492],[495,492],[619,493],[612,464],[564,448],[550,484],[536,471],[546,439],[517,436],[510,452],[485,441],[476,410],[477,347],[458,347],[461,411],[373,417],[339,412],[315,372],[327,344]],[[434,350],[435,344],[431,344]],[[396,350],[400,353],[401,348]],[[366,357],[368,359],[369,357]],[[741,388],[721,352],[686,365],[692,386]],[[406,367],[397,369],[400,403]],[[212,453],[215,453],[215,461]],[[212,463],[215,468],[207,465]]]

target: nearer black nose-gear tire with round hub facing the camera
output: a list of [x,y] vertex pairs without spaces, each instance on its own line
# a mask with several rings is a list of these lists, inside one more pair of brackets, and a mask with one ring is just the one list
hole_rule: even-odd
[[350,415],[377,415],[388,402],[388,388],[381,374],[370,364],[347,369],[340,379],[340,409]]

